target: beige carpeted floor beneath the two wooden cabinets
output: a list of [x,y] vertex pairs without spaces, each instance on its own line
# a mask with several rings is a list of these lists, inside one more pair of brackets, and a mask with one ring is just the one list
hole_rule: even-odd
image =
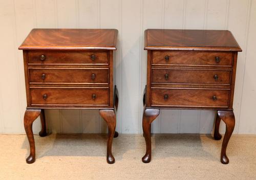
[[99,134],[35,136],[36,162],[26,164],[25,135],[0,135],[0,179],[256,179],[256,137],[233,136],[220,163],[220,141],[209,135],[156,134],[153,158],[141,162],[141,135],[114,139],[116,163],[105,160],[106,136]]

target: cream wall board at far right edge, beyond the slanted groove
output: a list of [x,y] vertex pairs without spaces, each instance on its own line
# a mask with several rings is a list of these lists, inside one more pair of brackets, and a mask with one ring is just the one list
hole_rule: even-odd
[[255,100],[256,100],[256,81],[255,81],[255,67],[256,67],[256,1],[251,1],[250,16],[248,22],[248,37],[246,42],[246,57],[244,82],[241,102],[241,115],[239,122],[238,133],[255,134],[256,133],[256,118]]

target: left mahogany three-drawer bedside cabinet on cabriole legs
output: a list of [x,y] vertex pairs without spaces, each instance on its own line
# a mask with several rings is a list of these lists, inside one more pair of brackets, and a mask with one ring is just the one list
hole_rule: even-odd
[[23,44],[27,110],[24,126],[30,145],[27,163],[35,161],[33,121],[40,116],[41,137],[46,136],[44,109],[99,109],[109,128],[106,160],[117,137],[113,84],[115,29],[33,29]]

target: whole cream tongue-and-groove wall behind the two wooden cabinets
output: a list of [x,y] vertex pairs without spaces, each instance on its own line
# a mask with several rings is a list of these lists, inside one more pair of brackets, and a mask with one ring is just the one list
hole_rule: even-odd
[[[142,133],[146,84],[143,32],[158,29],[230,30],[238,56],[234,133],[256,134],[256,0],[0,0],[0,133],[24,133],[26,109],[22,51],[32,28],[115,28],[119,31],[115,82],[119,90],[117,130]],[[161,110],[155,133],[211,133],[215,111]],[[47,110],[53,133],[104,133],[98,110]],[[40,129],[39,120],[34,132]],[[222,132],[224,126],[221,126]]]

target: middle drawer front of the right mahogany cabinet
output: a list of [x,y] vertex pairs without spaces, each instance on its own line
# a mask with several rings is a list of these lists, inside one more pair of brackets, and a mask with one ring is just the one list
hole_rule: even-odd
[[226,84],[231,81],[231,70],[152,69],[152,83]]

